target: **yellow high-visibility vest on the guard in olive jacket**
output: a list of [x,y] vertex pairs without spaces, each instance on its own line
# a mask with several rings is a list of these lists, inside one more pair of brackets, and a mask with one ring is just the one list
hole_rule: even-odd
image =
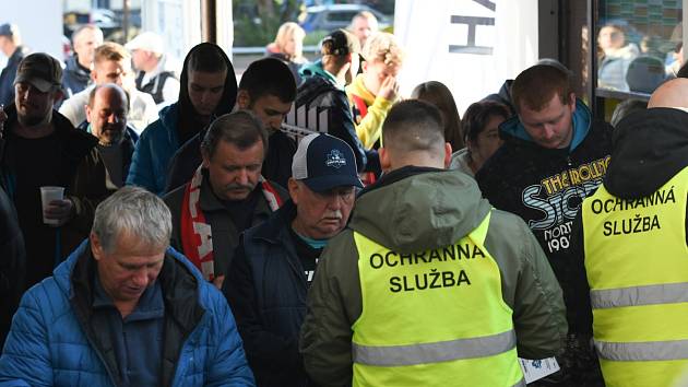
[[512,310],[485,249],[489,213],[456,243],[400,254],[354,233],[363,312],[354,386],[524,386]]

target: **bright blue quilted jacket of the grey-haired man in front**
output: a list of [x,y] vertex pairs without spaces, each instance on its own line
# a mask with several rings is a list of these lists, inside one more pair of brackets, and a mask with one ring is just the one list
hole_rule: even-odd
[[[93,275],[84,242],[24,294],[0,357],[0,386],[121,385],[111,338],[90,318]],[[165,300],[159,386],[253,386],[223,295],[171,248],[157,281]]]

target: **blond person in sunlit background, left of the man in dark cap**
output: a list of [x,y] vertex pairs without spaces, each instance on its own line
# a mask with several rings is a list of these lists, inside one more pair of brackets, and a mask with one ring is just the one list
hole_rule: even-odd
[[304,38],[306,32],[298,24],[287,22],[280,26],[275,42],[268,45],[268,56],[284,61],[292,70],[296,84],[301,83],[299,68],[308,62],[304,57]]

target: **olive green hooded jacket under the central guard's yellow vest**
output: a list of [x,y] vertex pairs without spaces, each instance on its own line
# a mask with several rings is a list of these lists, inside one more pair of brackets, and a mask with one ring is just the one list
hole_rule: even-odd
[[[488,211],[475,180],[459,171],[404,167],[361,192],[348,227],[325,247],[310,289],[300,340],[309,376],[323,386],[351,385],[352,325],[363,310],[354,231],[400,254],[417,253],[455,243]],[[493,210],[485,247],[513,309],[519,355],[557,354],[567,332],[561,289],[527,225]]]

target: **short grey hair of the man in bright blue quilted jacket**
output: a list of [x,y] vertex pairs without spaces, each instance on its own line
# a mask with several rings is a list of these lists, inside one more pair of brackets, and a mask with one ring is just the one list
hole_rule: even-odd
[[167,246],[171,214],[165,202],[140,187],[123,187],[105,199],[95,211],[91,232],[106,253],[112,253],[122,234],[135,235],[145,245]]

